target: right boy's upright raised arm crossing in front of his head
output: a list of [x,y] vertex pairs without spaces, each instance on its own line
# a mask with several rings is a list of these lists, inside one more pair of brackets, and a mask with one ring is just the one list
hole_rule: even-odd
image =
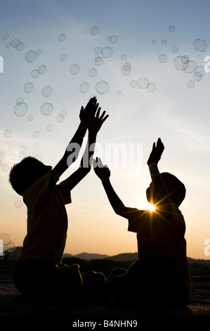
[[152,178],[152,187],[150,187],[150,194],[152,194],[153,204],[157,207],[157,210],[164,212],[171,211],[171,200],[169,199],[169,192],[167,187],[162,180],[162,176],[158,170],[158,162],[164,151],[164,144],[161,139],[157,140],[152,145],[152,151],[147,160],[149,166],[150,176]]

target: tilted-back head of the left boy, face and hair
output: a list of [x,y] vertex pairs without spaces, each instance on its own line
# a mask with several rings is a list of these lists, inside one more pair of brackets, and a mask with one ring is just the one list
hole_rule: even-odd
[[36,180],[39,180],[41,176],[46,175],[51,168],[51,165],[44,165],[37,158],[28,156],[23,158],[20,163],[13,165],[9,174],[9,182],[15,192],[23,195],[25,189],[30,187]]

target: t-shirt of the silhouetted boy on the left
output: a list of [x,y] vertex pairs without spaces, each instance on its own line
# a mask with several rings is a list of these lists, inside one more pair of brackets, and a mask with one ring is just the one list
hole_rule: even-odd
[[44,258],[60,263],[67,238],[67,213],[70,204],[70,179],[49,189],[51,171],[27,188],[23,201],[27,206],[27,235],[18,261]]

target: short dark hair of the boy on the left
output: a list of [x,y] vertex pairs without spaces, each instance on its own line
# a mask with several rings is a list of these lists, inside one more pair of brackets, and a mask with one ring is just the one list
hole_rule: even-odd
[[37,158],[27,156],[19,163],[15,163],[11,168],[8,181],[11,183],[11,186],[15,192],[22,196],[25,189],[27,189],[27,187],[32,185],[32,182],[34,182],[32,168],[30,165],[34,163],[35,160],[38,161]]

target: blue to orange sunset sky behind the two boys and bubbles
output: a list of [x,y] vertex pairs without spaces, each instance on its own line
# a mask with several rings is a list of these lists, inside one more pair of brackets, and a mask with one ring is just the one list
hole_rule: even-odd
[[[124,205],[148,208],[147,158],[161,137],[159,169],[176,175],[187,190],[180,207],[187,255],[209,259],[209,10],[204,0],[1,0],[0,235],[8,233],[22,246],[27,233],[27,208],[8,184],[11,166],[25,156],[56,165],[77,130],[81,106],[96,96],[109,118],[94,156],[109,166]],[[41,108],[46,103],[53,107],[48,115]],[[86,137],[81,155],[85,144]],[[136,234],[112,210],[93,169],[66,208],[65,253],[137,251]]]

